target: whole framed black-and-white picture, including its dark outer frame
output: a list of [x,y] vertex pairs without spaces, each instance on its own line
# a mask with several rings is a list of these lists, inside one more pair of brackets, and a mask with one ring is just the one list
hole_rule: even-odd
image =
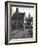
[[6,43],[36,42],[37,4],[6,2]]

